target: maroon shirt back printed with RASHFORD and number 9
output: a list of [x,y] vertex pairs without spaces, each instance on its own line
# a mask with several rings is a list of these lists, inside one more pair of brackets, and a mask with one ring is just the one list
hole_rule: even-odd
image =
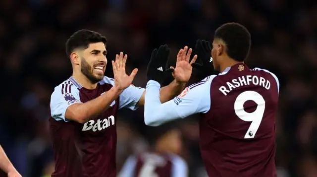
[[211,107],[200,120],[200,146],[211,177],[276,177],[276,76],[244,64],[215,76]]

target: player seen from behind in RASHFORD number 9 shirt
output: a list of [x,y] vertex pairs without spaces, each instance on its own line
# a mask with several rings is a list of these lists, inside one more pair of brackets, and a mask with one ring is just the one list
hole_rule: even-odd
[[198,59],[204,61],[199,67],[207,72],[212,61],[219,75],[207,76],[164,104],[158,100],[159,83],[148,79],[144,112],[147,125],[159,126],[194,113],[203,115],[200,148],[210,177],[276,177],[279,81],[269,71],[251,70],[244,64],[250,47],[248,30],[227,23],[215,31],[212,50],[206,41],[198,40],[196,44],[202,52]]

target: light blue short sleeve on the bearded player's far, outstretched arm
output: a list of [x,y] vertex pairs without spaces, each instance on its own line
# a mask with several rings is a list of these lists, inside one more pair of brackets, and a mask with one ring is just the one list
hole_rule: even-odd
[[[114,85],[113,78],[105,76],[103,81],[106,83],[110,83],[111,85]],[[138,108],[138,106],[136,105],[139,102],[144,91],[144,88],[136,87],[132,84],[128,88],[124,89],[119,96],[119,109],[125,107],[131,110],[136,110]]]

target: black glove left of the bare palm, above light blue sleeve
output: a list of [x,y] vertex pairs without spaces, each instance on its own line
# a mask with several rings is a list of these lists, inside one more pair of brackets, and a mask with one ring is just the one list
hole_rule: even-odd
[[159,49],[153,50],[147,69],[147,82],[155,80],[161,83],[164,80],[165,72],[173,71],[172,69],[166,70],[165,68],[169,52],[170,49],[166,44],[159,46]]

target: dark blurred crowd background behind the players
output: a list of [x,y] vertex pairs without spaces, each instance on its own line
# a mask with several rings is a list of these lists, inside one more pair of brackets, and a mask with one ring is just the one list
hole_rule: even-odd
[[[145,86],[152,50],[167,43],[177,51],[196,39],[212,41],[225,22],[252,34],[247,64],[280,80],[277,115],[278,177],[317,175],[317,3],[316,0],[0,0],[0,144],[24,177],[53,170],[48,132],[53,88],[71,75],[65,41],[76,30],[108,39],[108,60],[128,54],[128,71],[139,68],[134,85]],[[107,76],[112,76],[108,65]],[[143,109],[118,116],[118,170],[132,153],[147,148],[151,133]],[[206,177],[198,146],[198,121],[180,122],[190,177]]]

